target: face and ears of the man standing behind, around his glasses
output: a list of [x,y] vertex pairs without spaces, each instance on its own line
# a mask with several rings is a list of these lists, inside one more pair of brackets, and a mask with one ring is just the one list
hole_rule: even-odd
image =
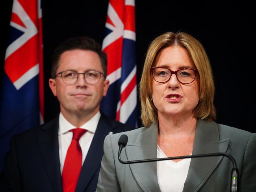
[[[72,70],[77,73],[85,73],[96,70],[103,73],[100,57],[96,52],[89,50],[71,50],[64,52],[59,59],[59,72]],[[102,96],[106,96],[109,81],[100,76],[100,81],[94,85],[88,84],[82,74],[72,85],[64,83],[59,74],[55,79],[49,79],[50,88],[57,96],[62,114],[90,114],[94,115],[100,108]]]

